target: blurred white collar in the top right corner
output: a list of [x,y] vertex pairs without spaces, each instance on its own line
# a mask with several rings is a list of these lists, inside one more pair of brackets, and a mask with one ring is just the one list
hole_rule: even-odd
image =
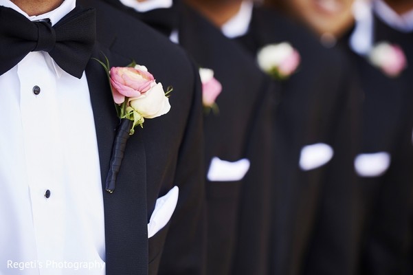
[[404,14],[397,14],[392,8],[382,0],[373,2],[373,8],[377,17],[388,24],[390,27],[399,30],[400,32],[413,31],[413,10],[405,12]]

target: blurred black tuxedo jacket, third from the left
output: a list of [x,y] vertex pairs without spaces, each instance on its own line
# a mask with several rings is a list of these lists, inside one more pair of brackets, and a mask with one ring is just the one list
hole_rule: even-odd
[[[288,42],[300,53],[297,72],[282,81],[276,115],[276,181],[271,274],[353,274],[359,89],[344,56],[280,14],[255,7],[236,39],[256,57],[267,44]],[[299,167],[303,146],[333,148],[312,170]],[[238,261],[238,271],[248,269]],[[250,270],[252,273],[253,270]],[[251,274],[252,274],[251,273]]]

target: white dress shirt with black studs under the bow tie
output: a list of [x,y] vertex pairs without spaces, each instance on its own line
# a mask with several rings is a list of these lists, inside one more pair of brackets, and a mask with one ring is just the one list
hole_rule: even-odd
[[[36,17],[9,0],[0,5],[53,25],[76,0]],[[79,80],[47,52],[30,52],[0,76],[0,88],[0,274],[105,274],[98,145],[85,74]]]

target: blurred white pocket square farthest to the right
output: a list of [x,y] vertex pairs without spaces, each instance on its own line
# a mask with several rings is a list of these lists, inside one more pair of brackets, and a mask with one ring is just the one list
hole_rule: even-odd
[[354,167],[361,177],[379,177],[390,166],[390,154],[386,152],[359,154],[354,160]]

